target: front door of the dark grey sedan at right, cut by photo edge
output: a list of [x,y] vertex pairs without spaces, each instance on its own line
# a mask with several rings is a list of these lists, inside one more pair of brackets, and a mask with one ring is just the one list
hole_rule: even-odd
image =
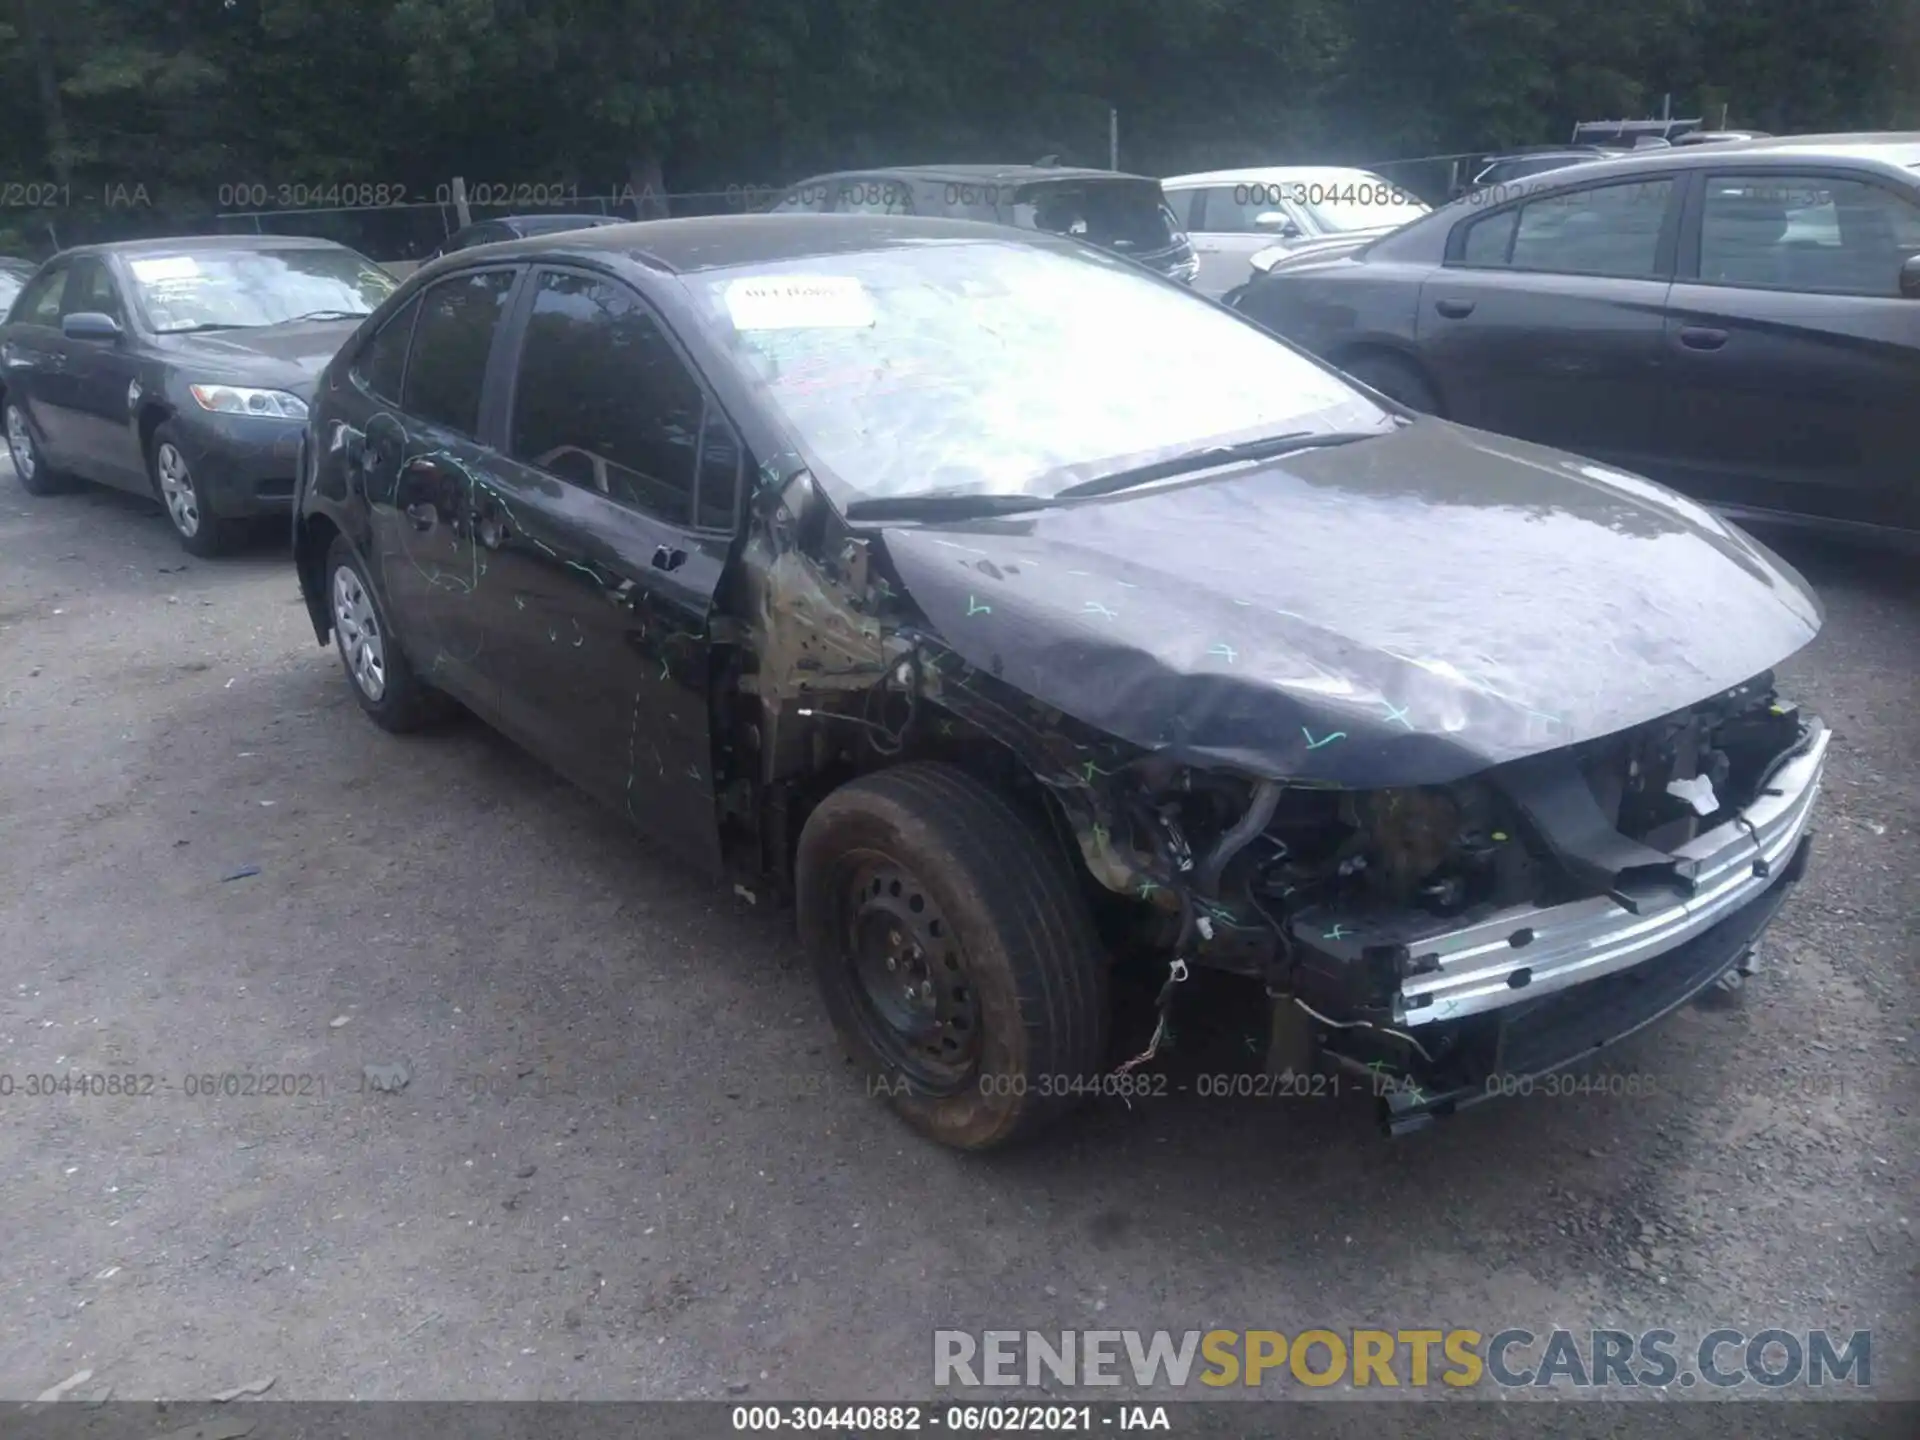
[[1905,186],[1839,169],[1699,177],[1667,305],[1663,478],[1701,499],[1920,530],[1920,253]]

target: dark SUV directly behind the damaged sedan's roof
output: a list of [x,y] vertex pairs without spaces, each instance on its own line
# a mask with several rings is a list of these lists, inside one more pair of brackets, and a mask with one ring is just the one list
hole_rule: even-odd
[[920,215],[1041,230],[1112,250],[1169,280],[1200,265],[1160,180],[1071,165],[902,165],[816,175],[772,215]]

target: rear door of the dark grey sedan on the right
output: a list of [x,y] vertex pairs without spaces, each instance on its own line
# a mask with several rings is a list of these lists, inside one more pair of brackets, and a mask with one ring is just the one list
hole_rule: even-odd
[[1680,186],[1640,175],[1455,225],[1415,342],[1450,419],[1640,465],[1659,432]]

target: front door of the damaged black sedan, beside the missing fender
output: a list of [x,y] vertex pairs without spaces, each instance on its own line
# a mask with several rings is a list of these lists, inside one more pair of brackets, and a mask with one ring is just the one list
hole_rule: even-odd
[[641,829],[718,866],[708,614],[743,451],[630,286],[536,273],[515,332],[488,553],[509,728]]

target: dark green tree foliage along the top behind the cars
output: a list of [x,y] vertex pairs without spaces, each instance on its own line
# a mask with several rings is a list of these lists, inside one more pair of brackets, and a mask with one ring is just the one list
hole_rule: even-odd
[[1920,0],[0,0],[0,184],[65,186],[0,209],[0,250],[205,228],[288,186],[1102,165],[1110,108],[1127,169],[1379,161],[1668,94],[1768,131],[1916,125]]

